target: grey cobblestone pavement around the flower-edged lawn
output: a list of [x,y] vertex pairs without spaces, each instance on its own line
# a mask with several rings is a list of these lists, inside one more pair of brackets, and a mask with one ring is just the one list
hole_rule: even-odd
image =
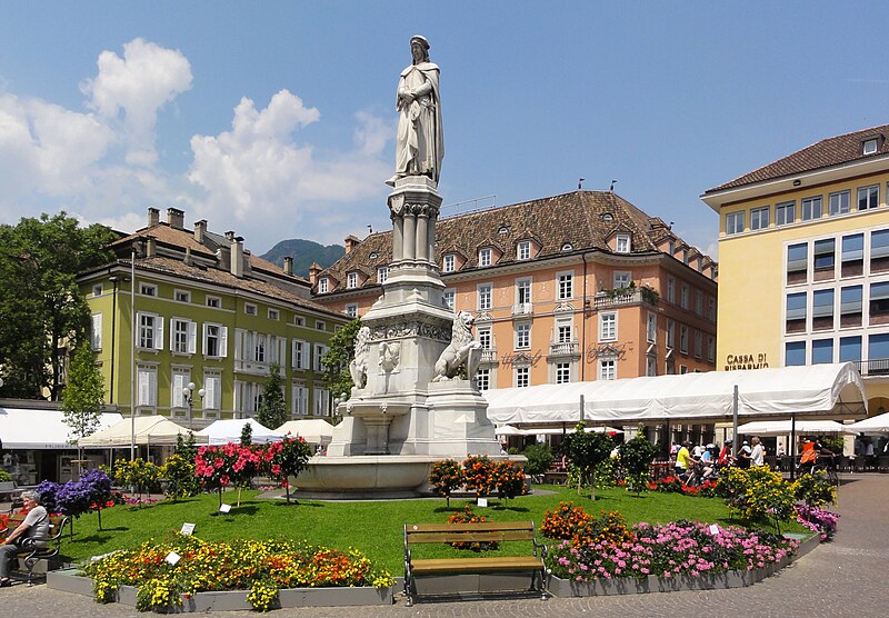
[[[361,608],[276,610],[288,617],[505,617],[525,616],[776,616],[781,618],[885,616],[889,575],[889,475],[858,475],[843,480],[842,516],[832,544],[822,545],[781,572],[749,588],[663,592],[579,599],[463,600]],[[97,605],[88,597],[16,585],[0,590],[7,616],[139,616],[132,608]],[[244,616],[218,612],[218,616]],[[144,616],[144,615],[141,615]]]

